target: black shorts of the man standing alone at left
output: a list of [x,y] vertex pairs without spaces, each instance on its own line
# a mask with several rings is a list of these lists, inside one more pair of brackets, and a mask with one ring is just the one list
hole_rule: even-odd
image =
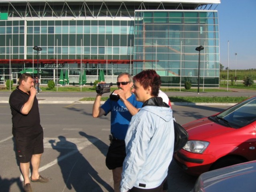
[[29,137],[14,138],[16,144],[16,155],[20,163],[30,162],[32,155],[42,154],[44,152],[43,132]]

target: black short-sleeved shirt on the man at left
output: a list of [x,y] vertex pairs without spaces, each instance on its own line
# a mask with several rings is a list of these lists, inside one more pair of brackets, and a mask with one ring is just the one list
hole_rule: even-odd
[[18,87],[10,95],[9,104],[12,111],[12,134],[14,136],[27,137],[42,132],[36,96],[30,112],[27,115],[21,113],[28,98],[29,95],[21,91]]

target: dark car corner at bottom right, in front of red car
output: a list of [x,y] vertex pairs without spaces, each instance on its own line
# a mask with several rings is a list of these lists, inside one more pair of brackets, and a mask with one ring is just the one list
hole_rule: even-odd
[[203,173],[191,192],[255,192],[256,161]]

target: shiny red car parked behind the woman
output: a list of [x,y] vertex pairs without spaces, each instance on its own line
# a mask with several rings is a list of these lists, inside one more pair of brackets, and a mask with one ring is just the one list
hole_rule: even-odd
[[188,174],[256,160],[256,96],[183,127],[189,138],[174,159]]

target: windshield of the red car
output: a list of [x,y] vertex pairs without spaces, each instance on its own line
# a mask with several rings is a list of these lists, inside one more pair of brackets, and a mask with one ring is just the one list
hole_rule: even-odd
[[228,127],[241,128],[256,120],[256,97],[245,100],[216,116],[212,120]]

